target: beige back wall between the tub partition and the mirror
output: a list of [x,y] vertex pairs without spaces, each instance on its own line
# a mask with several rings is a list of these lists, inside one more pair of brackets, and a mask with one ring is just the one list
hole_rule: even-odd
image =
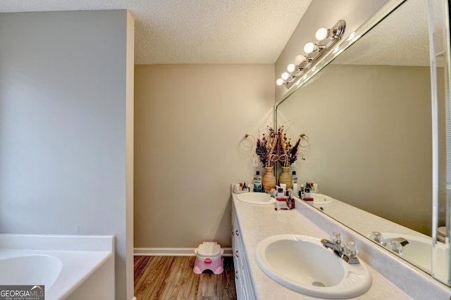
[[240,141],[273,120],[273,67],[135,66],[135,247],[230,247],[230,183],[255,171]]

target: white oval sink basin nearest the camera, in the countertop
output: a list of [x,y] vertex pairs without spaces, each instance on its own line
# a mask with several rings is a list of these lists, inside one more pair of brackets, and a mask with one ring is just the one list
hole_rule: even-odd
[[316,237],[267,237],[257,245],[255,260],[280,285],[310,296],[345,299],[371,287],[371,274],[362,260],[348,264]]

